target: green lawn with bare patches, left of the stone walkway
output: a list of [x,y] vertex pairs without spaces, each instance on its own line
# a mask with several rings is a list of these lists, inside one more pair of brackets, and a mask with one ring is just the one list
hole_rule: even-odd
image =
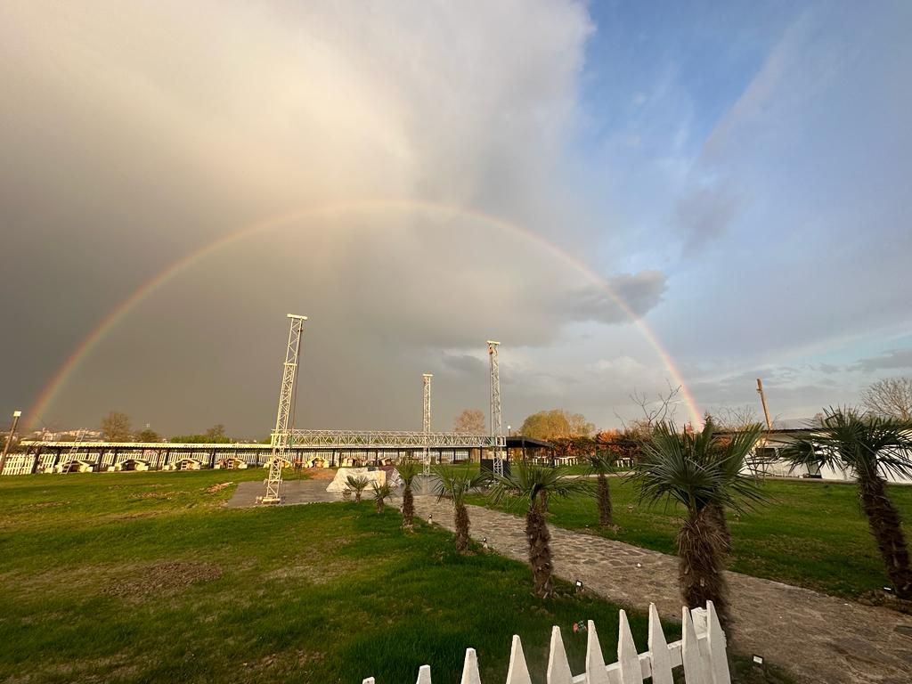
[[[503,681],[514,633],[544,675],[552,625],[582,671],[571,627],[589,618],[612,659],[616,606],[569,587],[538,600],[524,565],[456,554],[423,524],[407,534],[395,508],[226,510],[233,487],[207,492],[263,477],[3,478],[0,680],[392,683],[430,663],[435,683],[456,682],[472,646],[484,680]],[[631,624],[643,650],[646,620]]]

